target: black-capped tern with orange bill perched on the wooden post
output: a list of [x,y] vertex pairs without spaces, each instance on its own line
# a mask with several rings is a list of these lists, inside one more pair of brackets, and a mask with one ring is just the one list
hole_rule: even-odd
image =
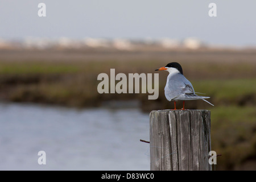
[[183,75],[183,71],[179,63],[172,62],[167,64],[165,67],[155,69],[155,71],[161,70],[169,72],[166,87],[164,88],[164,95],[168,101],[174,101],[174,110],[176,110],[176,101],[180,100],[183,101],[182,110],[185,110],[185,101],[187,100],[203,100],[213,106],[213,104],[205,100],[210,97],[197,96],[191,82]]

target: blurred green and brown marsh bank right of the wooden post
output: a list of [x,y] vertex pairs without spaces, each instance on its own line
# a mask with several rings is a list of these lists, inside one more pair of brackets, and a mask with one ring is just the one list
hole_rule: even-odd
[[243,166],[256,155],[256,106],[218,106],[211,110],[212,150],[219,169],[255,169]]

